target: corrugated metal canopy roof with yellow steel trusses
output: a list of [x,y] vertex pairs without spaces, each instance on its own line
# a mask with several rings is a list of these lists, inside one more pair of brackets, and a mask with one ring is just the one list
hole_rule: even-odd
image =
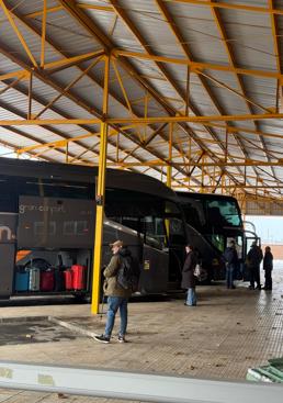
[[0,155],[97,165],[105,121],[111,167],[282,199],[282,1],[0,0]]

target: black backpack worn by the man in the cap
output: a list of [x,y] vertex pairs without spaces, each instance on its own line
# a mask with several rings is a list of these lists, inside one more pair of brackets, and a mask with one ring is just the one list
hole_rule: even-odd
[[137,291],[139,265],[132,256],[120,257],[121,265],[117,271],[117,283],[124,290]]

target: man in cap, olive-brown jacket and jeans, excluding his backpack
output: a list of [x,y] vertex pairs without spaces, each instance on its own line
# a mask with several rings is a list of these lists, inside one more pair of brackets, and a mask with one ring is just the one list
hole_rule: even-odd
[[123,246],[122,240],[116,240],[110,245],[112,247],[113,256],[109,266],[104,270],[104,294],[107,295],[107,321],[105,325],[104,334],[101,336],[94,336],[97,342],[110,343],[111,334],[115,323],[115,316],[117,310],[120,310],[120,333],[118,342],[125,343],[125,335],[127,329],[127,302],[132,294],[132,289],[124,289],[117,282],[117,272],[121,268],[123,259],[132,258],[131,251]]

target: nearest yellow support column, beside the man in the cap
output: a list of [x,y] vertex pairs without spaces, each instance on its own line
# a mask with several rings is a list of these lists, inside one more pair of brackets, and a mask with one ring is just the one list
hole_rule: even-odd
[[[109,105],[109,57],[105,58],[104,72],[104,94],[103,94],[103,117],[106,117]],[[100,280],[101,280],[101,256],[103,244],[103,216],[105,199],[105,176],[106,176],[106,156],[107,156],[107,124],[101,123],[100,155],[99,155],[99,177],[97,186],[97,220],[94,234],[94,255],[92,271],[92,299],[91,313],[99,313],[100,303]]]

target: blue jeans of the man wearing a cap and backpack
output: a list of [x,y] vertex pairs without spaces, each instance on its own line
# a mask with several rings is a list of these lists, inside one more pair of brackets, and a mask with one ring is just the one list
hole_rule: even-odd
[[127,329],[127,298],[122,296],[109,296],[107,298],[107,322],[105,325],[105,334],[104,336],[110,337],[114,327],[115,316],[117,310],[120,309],[120,336],[125,336]]

